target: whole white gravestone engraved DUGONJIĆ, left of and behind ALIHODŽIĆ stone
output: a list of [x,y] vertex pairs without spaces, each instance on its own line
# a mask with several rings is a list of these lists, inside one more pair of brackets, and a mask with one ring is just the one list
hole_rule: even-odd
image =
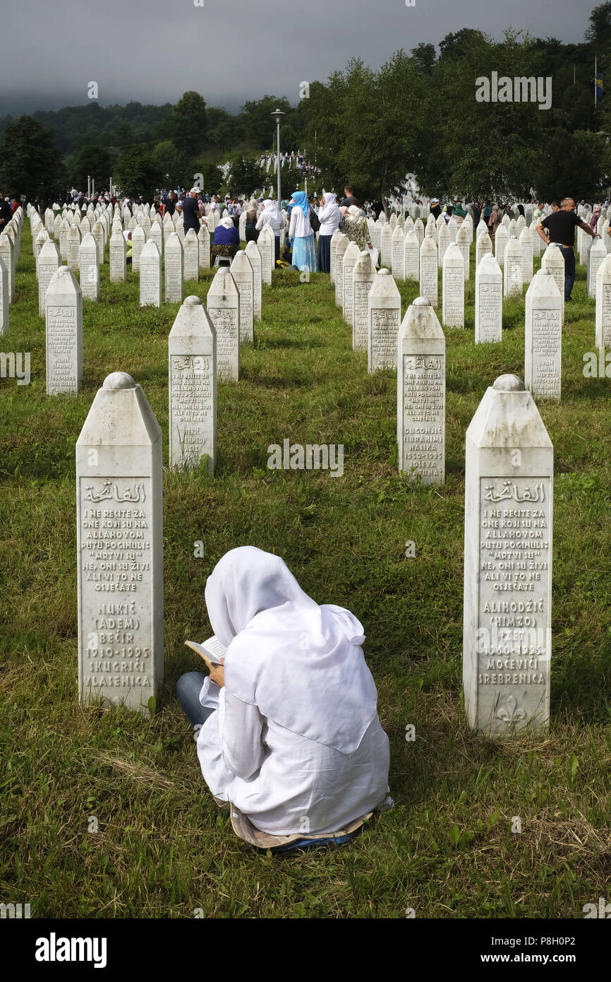
[[417,297],[399,330],[399,473],[423,484],[445,480],[445,338],[431,302]]

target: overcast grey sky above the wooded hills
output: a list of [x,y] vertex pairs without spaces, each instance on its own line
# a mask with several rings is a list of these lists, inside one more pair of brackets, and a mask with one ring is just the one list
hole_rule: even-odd
[[580,42],[599,2],[13,0],[2,18],[0,115],[86,103],[88,82],[102,105],[176,102],[186,89],[230,111],[265,94],[296,103],[299,82],[324,82],[351,57],[378,67],[461,27]]

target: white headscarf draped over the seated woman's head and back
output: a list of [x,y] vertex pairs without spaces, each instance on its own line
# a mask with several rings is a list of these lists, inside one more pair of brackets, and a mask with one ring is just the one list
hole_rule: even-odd
[[286,730],[353,753],[376,716],[363,626],[319,607],[280,556],[231,549],[206,583],[215,634],[228,646],[227,691]]

